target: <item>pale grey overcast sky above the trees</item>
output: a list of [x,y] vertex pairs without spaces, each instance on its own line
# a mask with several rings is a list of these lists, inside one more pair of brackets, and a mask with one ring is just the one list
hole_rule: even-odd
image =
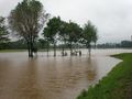
[[[0,15],[8,16],[22,0],[0,0]],[[40,0],[52,15],[98,28],[99,43],[131,40],[132,0]]]

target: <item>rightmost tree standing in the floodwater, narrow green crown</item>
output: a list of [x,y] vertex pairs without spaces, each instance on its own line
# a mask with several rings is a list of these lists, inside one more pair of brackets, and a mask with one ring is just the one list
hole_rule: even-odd
[[88,23],[85,24],[82,30],[82,43],[86,44],[86,47],[89,51],[89,56],[91,52],[91,43],[97,42],[97,40],[98,40],[97,29],[95,25],[91,24],[90,21],[88,21]]

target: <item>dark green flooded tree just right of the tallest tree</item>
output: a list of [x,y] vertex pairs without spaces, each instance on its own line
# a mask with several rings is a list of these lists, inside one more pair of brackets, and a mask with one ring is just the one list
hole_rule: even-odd
[[56,43],[57,43],[57,34],[59,33],[61,29],[61,18],[54,16],[50,19],[47,22],[46,28],[44,29],[44,36],[51,41],[54,45],[54,56],[56,56]]

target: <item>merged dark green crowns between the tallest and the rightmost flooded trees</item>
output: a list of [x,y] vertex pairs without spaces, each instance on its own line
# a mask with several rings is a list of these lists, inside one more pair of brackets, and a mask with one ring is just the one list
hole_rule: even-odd
[[44,29],[43,35],[50,41],[55,41],[56,34],[66,38],[69,42],[78,42],[81,35],[81,28],[74,22],[64,22],[61,18],[53,18],[47,22],[47,26]]

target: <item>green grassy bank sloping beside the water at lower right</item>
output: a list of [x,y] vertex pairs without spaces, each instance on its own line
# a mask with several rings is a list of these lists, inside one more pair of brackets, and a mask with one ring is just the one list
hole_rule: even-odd
[[132,53],[112,55],[118,64],[99,84],[84,90],[77,99],[132,99]]

